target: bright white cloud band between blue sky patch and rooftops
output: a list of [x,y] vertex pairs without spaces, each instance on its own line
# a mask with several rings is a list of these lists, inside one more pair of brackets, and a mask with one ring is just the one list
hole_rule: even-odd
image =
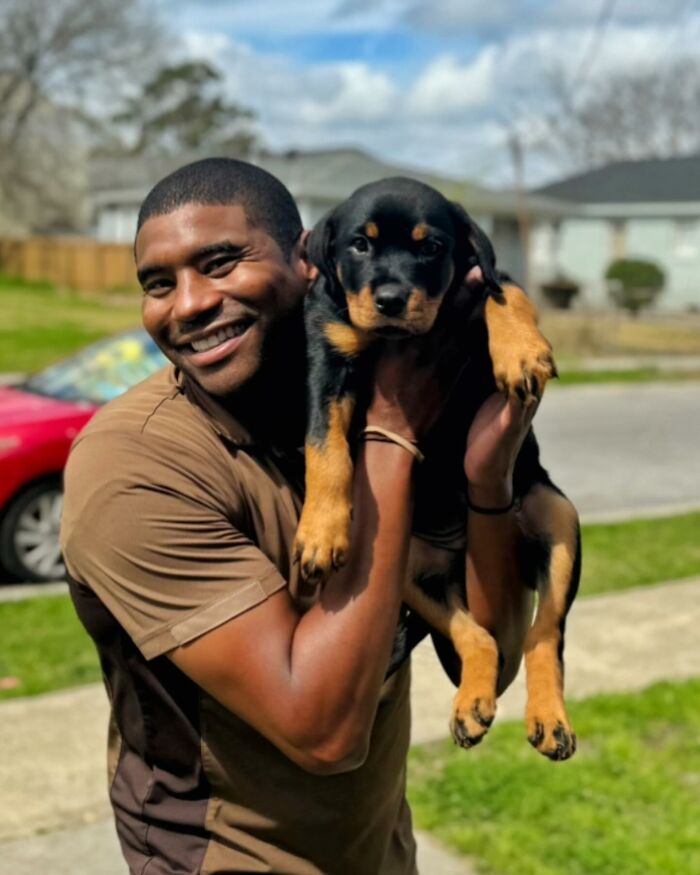
[[[377,4],[377,15],[396,13],[396,2]],[[330,7],[338,9],[337,4],[325,6],[327,13]],[[497,9],[506,7],[513,4],[504,2]],[[650,10],[646,0],[641,7]],[[352,14],[361,16],[359,0]],[[563,72],[571,82],[587,62],[583,84],[595,88],[599,79],[615,72],[695,57],[700,44],[696,16],[686,19],[682,29],[613,22],[591,51],[590,23],[572,18],[565,26],[528,29],[519,20],[518,29],[497,42],[482,41],[472,57],[445,50],[417,69],[415,59],[408,57],[403,67],[385,69],[377,63],[381,59],[373,58],[301,63],[283,54],[257,52],[223,29],[208,26],[190,29],[185,42],[193,55],[221,68],[231,99],[257,113],[258,129],[273,149],[354,144],[390,163],[508,184],[507,125],[517,124],[525,133],[537,127],[551,94],[552,71]],[[276,26],[272,19],[270,24]],[[547,174],[538,165],[538,178],[553,172],[550,168]]]

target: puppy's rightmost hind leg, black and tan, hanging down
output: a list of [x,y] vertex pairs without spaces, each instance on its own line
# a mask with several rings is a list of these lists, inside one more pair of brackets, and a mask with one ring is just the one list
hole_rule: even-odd
[[580,575],[578,515],[571,502],[548,486],[536,485],[523,500],[528,536],[543,547],[537,582],[538,606],[525,639],[530,743],[552,760],[576,750],[576,736],[564,705],[564,628]]

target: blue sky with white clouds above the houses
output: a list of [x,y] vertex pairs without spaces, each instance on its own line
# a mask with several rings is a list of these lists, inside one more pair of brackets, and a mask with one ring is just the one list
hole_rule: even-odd
[[[170,0],[183,51],[225,73],[273,150],[360,146],[389,163],[513,183],[562,80],[697,58],[700,0]],[[566,175],[526,152],[526,182]]]

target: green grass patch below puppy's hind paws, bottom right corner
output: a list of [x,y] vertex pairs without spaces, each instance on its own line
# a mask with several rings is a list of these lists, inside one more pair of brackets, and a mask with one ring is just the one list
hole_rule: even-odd
[[700,872],[700,680],[571,707],[579,752],[551,763],[520,722],[471,751],[413,751],[416,825],[498,875]]

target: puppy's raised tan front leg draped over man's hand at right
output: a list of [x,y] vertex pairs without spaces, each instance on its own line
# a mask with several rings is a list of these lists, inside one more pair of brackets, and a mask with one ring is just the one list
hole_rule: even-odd
[[552,347],[525,292],[510,282],[501,288],[502,295],[490,295],[484,308],[493,376],[501,391],[531,403],[557,375]]

